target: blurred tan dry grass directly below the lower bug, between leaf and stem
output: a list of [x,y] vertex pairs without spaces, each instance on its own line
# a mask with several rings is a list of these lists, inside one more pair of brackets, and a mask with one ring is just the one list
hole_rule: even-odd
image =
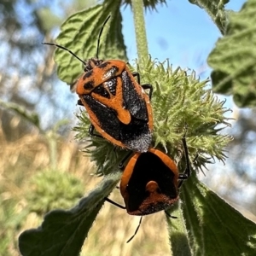
[[[119,197],[116,189],[111,198],[121,202]],[[137,236],[126,243],[134,234],[139,219],[106,203],[90,230],[81,255],[170,255],[164,212],[143,217]]]

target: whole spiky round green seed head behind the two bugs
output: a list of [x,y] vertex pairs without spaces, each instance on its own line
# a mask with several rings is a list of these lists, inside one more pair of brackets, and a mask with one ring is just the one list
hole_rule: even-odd
[[[180,67],[176,70],[166,63],[146,61],[144,69],[137,65],[137,72],[142,76],[142,82],[152,84],[154,92],[152,107],[154,113],[154,142],[153,146],[164,150],[178,160],[183,152],[182,137],[185,125],[188,125],[186,139],[189,147],[190,159],[199,154],[195,166],[201,168],[209,162],[209,158],[216,157],[224,161],[224,147],[231,137],[218,132],[224,129],[228,118],[224,108],[212,91],[207,89],[207,82],[196,79],[195,72],[187,74]],[[88,137],[90,119],[87,113],[81,112],[77,138]],[[96,161],[98,174],[113,172],[119,162],[127,154],[126,150],[116,148],[113,151],[112,143],[97,137],[89,137],[89,145],[84,152],[90,154]],[[184,166],[184,164],[183,164]]]

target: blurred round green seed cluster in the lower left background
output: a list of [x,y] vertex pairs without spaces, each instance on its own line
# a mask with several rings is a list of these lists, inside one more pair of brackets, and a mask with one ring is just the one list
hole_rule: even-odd
[[29,212],[42,215],[52,209],[73,207],[84,192],[84,186],[70,173],[44,170],[29,180],[26,194]]

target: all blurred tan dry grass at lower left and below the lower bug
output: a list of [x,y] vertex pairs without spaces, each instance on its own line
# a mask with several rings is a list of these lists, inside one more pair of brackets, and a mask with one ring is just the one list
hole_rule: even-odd
[[[9,219],[5,220],[11,222],[19,212],[26,210],[27,202],[24,193],[30,189],[27,187],[30,177],[49,168],[49,145],[45,137],[36,132],[9,143],[0,131],[0,142],[0,201],[3,207],[8,201],[15,201],[14,211],[9,214]],[[93,165],[90,159],[84,157],[79,151],[72,137],[66,141],[60,139],[57,147],[57,169],[60,172],[73,173],[82,180],[84,194],[93,189],[100,178],[91,175],[94,172]],[[119,189],[113,191],[111,198],[123,204]],[[2,217],[3,214],[1,215],[0,212],[0,218]],[[14,230],[15,237],[9,242],[6,255],[19,255],[17,238],[20,232],[38,227],[41,221],[42,218],[39,218],[36,213],[29,213],[21,223],[21,227]],[[136,230],[138,222],[138,217],[130,216],[124,210],[106,203],[97,216],[88,239],[84,242],[81,255],[169,255],[163,212],[143,218],[137,236],[126,244]]]

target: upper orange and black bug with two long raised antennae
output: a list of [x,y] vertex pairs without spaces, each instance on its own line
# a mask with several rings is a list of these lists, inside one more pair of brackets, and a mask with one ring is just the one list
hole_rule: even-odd
[[[110,16],[108,16],[108,19]],[[121,148],[146,152],[152,141],[153,113],[150,105],[151,84],[140,84],[139,73],[131,73],[125,61],[98,58],[100,38],[97,41],[96,58],[82,61],[71,50],[67,50],[84,63],[84,74],[76,83],[79,104],[84,105],[90,117],[90,135],[106,138]],[[137,77],[137,80],[135,79]],[[144,90],[149,89],[149,94]]]

